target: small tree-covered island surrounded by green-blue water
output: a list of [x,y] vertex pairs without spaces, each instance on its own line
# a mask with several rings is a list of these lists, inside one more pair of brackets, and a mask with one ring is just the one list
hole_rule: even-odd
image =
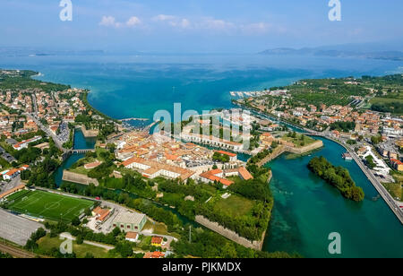
[[318,177],[321,177],[330,185],[335,186],[347,199],[355,202],[364,200],[364,191],[356,186],[350,177],[347,168],[335,167],[324,157],[314,157],[308,164],[308,168]]

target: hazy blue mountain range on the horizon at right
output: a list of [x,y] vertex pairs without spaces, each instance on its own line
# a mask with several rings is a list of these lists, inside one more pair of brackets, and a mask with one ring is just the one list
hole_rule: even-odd
[[403,60],[403,52],[396,50],[385,51],[363,51],[349,49],[332,49],[330,47],[304,47],[300,49],[290,47],[279,47],[268,49],[259,53],[260,55],[283,55],[283,56],[333,56],[333,57],[358,57],[386,60]]

